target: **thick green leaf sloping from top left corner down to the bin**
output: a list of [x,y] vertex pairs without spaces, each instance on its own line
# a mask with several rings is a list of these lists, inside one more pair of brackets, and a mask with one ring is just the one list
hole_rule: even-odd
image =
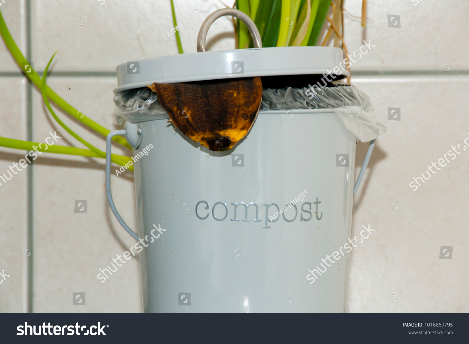
[[[3,40],[5,41],[5,44],[8,47],[8,50],[11,52],[14,59],[16,60],[16,63],[18,63],[19,66],[22,66],[22,63],[30,65],[29,61],[24,58],[23,54],[18,49],[18,46],[16,45],[15,40],[13,39],[13,37],[11,37],[11,34],[8,31],[7,25],[5,24],[5,21],[3,19],[2,14],[1,14],[1,11],[0,11],[0,34],[3,37]],[[39,89],[41,88],[41,78],[34,71],[34,69],[31,68],[31,73],[27,74],[26,76]],[[46,90],[47,90],[47,97],[49,97],[63,111],[68,112],[71,116],[75,117],[77,120],[82,122],[84,125],[86,125],[86,126],[90,127],[91,129],[97,131],[99,134],[107,136],[107,134],[110,133],[110,131],[107,130],[105,127],[102,127],[101,125],[99,125],[95,121],[93,121],[90,118],[86,117],[85,115],[83,115],[82,112],[78,112],[72,105],[69,105],[65,100],[63,100],[61,97],[59,97],[48,86],[46,86]],[[120,143],[124,147],[132,149],[132,147],[129,145],[129,143],[122,136],[114,136],[113,140],[115,142]]]

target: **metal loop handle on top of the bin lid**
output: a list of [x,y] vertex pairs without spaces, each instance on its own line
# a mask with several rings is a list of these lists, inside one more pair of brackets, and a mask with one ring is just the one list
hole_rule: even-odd
[[219,17],[223,17],[225,15],[232,15],[241,20],[244,24],[246,24],[249,29],[249,32],[251,33],[254,47],[262,48],[261,35],[259,33],[259,30],[257,30],[257,26],[252,21],[252,19],[240,10],[234,8],[222,8],[213,12],[202,23],[202,26],[199,30],[199,34],[197,35],[197,52],[205,51],[205,40],[207,39],[208,29],[210,29],[210,26],[212,26],[214,21],[216,21]]

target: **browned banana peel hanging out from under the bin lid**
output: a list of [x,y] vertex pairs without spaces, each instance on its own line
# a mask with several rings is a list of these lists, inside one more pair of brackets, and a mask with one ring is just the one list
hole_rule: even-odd
[[260,77],[147,86],[182,133],[213,151],[232,149],[249,132],[262,100]]

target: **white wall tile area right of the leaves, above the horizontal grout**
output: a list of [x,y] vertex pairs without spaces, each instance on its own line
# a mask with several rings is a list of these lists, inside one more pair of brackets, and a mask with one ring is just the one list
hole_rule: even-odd
[[[466,40],[469,3],[464,0],[368,1],[366,28],[361,27],[362,1],[346,0],[344,8],[348,51],[357,51],[363,39],[376,45],[354,64],[355,70],[438,70],[448,66],[467,70],[469,52]],[[399,15],[401,28],[389,27],[387,15]],[[443,68],[443,64],[448,65]]]

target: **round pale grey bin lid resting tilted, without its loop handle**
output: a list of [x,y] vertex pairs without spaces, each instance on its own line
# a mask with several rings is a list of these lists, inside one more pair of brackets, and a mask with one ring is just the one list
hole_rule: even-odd
[[[117,66],[114,92],[145,87],[153,82],[197,82],[272,75],[322,75],[327,70],[337,80],[348,77],[339,67],[342,49],[326,46],[285,46],[195,52],[153,57]],[[342,63],[345,69],[345,63]],[[335,68],[336,71],[338,68]]]

